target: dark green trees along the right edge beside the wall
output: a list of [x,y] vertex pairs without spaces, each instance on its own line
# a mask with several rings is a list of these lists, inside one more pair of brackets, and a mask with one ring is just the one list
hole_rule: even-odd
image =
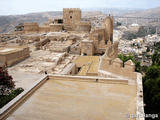
[[[143,89],[144,103],[146,104],[145,113],[160,116],[160,49],[157,49],[158,47],[160,47],[160,43],[155,44],[152,65],[145,68]],[[157,120],[160,120],[160,117]]]

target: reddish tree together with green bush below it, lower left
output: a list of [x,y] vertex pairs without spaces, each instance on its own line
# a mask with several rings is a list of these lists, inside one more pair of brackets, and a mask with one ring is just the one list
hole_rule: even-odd
[[15,89],[13,78],[5,68],[0,67],[0,108],[19,95],[23,89]]

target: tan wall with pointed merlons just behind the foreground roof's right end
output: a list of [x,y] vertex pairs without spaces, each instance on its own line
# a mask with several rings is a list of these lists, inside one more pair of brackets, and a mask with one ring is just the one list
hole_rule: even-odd
[[135,64],[129,60],[124,64],[117,58],[118,42],[109,46],[105,54],[100,58],[99,76],[103,77],[124,77],[136,80],[137,73],[135,72]]

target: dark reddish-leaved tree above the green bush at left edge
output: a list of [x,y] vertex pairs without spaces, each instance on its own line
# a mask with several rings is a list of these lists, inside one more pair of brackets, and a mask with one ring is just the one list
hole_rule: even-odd
[[8,74],[7,69],[0,67],[0,94],[8,94],[8,90],[14,87],[13,78]]

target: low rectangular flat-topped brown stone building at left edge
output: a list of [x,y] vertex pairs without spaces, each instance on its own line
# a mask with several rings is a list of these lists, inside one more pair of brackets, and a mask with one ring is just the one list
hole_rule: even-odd
[[0,63],[6,66],[20,62],[30,56],[29,47],[5,47],[0,49]]

